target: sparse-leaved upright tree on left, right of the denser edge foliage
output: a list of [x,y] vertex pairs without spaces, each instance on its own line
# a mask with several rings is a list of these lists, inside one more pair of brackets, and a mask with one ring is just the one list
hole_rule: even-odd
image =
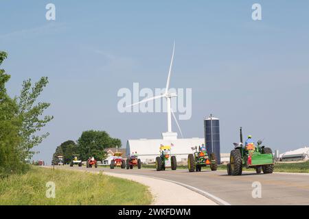
[[36,135],[38,131],[41,131],[41,129],[54,118],[53,116],[44,116],[41,118],[44,110],[49,107],[50,103],[36,103],[38,96],[40,96],[43,88],[47,86],[47,83],[47,77],[41,77],[38,82],[34,83],[34,86],[32,86],[31,79],[23,81],[23,89],[18,99],[19,115],[23,121],[20,131],[22,141],[19,145],[21,151],[20,155],[23,159],[30,159],[34,154],[31,149],[49,136],[48,132],[43,133],[41,136]]

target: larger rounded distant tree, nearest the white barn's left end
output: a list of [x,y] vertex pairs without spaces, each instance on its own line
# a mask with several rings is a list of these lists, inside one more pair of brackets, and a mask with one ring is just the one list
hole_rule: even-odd
[[78,152],[82,160],[93,156],[97,160],[106,157],[104,149],[122,145],[117,138],[111,138],[106,131],[83,131],[78,139]]

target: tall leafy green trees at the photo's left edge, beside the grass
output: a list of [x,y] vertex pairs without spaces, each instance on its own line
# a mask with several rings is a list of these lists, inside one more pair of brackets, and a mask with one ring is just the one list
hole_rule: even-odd
[[[7,53],[0,51],[0,66]],[[49,133],[37,135],[53,116],[42,116],[49,103],[36,103],[47,86],[47,77],[32,85],[31,79],[23,81],[21,94],[11,98],[5,88],[10,75],[0,68],[0,177],[27,169],[26,159],[34,155],[32,148],[40,144]]]

